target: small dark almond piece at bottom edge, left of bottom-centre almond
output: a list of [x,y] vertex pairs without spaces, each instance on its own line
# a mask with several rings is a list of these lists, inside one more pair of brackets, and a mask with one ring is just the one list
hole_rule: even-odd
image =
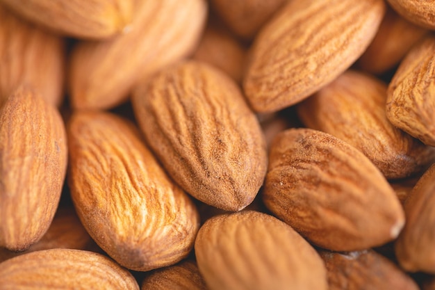
[[153,271],[142,282],[142,290],[206,290],[206,284],[195,261]]

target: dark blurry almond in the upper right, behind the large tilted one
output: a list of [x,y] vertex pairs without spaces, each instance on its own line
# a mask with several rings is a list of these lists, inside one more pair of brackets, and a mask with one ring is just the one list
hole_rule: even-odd
[[359,58],[362,70],[374,74],[386,72],[399,63],[409,49],[428,33],[388,9],[375,39]]

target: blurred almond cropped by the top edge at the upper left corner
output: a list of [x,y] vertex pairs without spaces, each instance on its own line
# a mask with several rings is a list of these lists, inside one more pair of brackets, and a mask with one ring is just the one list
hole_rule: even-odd
[[1,0],[18,15],[60,35],[108,38],[133,17],[133,0]]

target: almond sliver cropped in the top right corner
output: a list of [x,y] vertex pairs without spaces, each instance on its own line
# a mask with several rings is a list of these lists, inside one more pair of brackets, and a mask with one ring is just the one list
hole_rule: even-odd
[[435,29],[435,3],[432,0],[387,0],[402,17],[418,26]]

